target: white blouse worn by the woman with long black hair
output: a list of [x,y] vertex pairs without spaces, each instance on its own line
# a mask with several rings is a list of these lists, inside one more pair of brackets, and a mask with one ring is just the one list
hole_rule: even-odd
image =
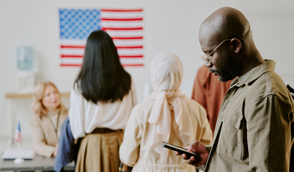
[[96,105],[91,101],[88,102],[77,91],[75,84],[71,91],[70,102],[70,126],[73,138],[77,139],[91,133],[95,128],[124,129],[132,108],[137,104],[137,94],[132,82],[131,90],[122,101],[98,102]]

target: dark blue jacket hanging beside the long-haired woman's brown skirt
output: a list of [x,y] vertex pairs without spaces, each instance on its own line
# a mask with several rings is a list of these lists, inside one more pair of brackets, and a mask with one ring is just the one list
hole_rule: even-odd
[[58,152],[55,157],[55,165],[53,167],[55,172],[61,172],[64,166],[73,161],[76,162],[80,141],[81,139],[78,139],[77,143],[74,144],[70,120],[67,117],[61,128]]

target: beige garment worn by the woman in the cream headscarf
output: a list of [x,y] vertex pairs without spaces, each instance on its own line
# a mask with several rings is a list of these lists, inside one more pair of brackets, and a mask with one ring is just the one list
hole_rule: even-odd
[[[150,147],[152,125],[147,122],[154,100],[145,100],[135,106],[127,121],[123,143],[120,147],[120,159],[123,164],[134,167],[132,172],[196,172],[181,156],[169,150],[168,158],[161,156]],[[204,144],[212,143],[210,129],[204,108],[194,100],[189,100],[188,109],[191,115],[195,140]],[[172,120],[173,111],[171,111]],[[172,124],[171,124],[172,125]],[[173,128],[169,143],[186,147],[176,137]],[[164,147],[162,147],[165,149]]]

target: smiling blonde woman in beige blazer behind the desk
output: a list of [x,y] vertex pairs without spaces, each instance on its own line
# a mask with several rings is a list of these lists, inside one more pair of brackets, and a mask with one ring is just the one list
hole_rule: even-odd
[[36,84],[31,109],[34,115],[29,124],[34,150],[42,156],[56,156],[61,127],[68,117],[57,87],[49,81]]

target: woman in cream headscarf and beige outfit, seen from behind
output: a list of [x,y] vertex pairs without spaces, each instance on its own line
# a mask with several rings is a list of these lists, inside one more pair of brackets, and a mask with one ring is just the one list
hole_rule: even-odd
[[160,53],[150,67],[153,92],[135,106],[127,121],[120,159],[132,172],[196,172],[161,142],[186,147],[194,140],[212,143],[206,112],[181,93],[183,66],[176,55]]

